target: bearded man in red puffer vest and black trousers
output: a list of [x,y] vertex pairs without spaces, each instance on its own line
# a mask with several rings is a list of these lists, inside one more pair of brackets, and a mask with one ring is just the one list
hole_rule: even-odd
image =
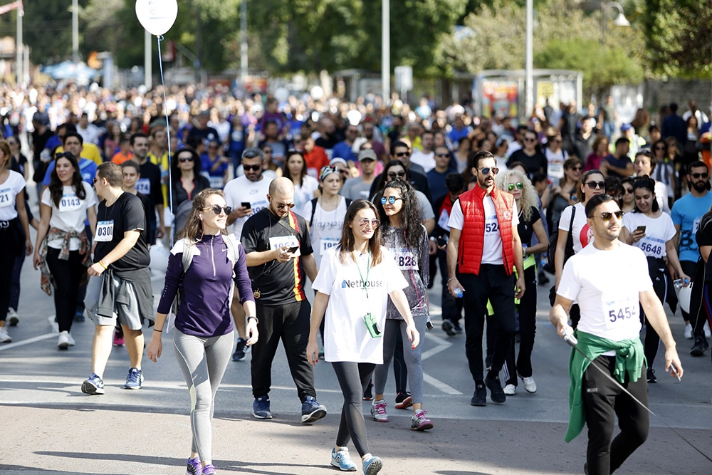
[[[447,287],[452,296],[464,299],[465,354],[475,380],[470,404],[484,406],[485,386],[493,402],[506,401],[499,372],[514,335],[514,298],[524,295],[525,286],[514,198],[495,187],[494,176],[499,169],[490,152],[477,152],[471,157],[471,166],[477,184],[458,197],[448,221]],[[519,276],[516,282],[514,268]],[[492,367],[484,377],[482,330],[488,300],[494,309],[496,339]]]

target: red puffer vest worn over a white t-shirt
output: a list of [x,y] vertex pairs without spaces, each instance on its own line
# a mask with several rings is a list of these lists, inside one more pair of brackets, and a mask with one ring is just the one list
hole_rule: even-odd
[[[514,252],[512,250],[512,211],[514,197],[501,192],[496,187],[490,194],[494,202],[499,232],[502,236],[502,259],[508,276],[514,268]],[[464,192],[458,198],[464,216],[462,234],[457,252],[457,263],[461,273],[478,274],[482,261],[482,250],[485,241],[485,212],[482,200],[485,190],[475,185],[473,189]]]

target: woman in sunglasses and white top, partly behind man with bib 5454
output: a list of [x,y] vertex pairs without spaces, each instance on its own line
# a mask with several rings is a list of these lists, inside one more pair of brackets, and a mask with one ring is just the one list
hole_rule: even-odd
[[[599,170],[589,170],[583,174],[581,177],[580,184],[576,191],[577,203],[568,206],[561,212],[561,217],[559,218],[559,232],[556,241],[556,254],[554,259],[554,266],[556,269],[556,285],[555,288],[559,288],[559,282],[561,281],[561,273],[564,269],[564,263],[567,256],[566,244],[569,239],[569,234],[572,236],[573,244],[573,254],[581,251],[588,244],[593,241],[593,231],[590,229],[586,219],[586,203],[592,197],[597,194],[603,194],[606,192],[606,182],[605,177]],[[571,215],[573,213],[573,222],[571,221]],[[576,328],[579,318],[581,318],[581,313],[577,304],[571,307],[570,311],[571,321],[573,328]]]

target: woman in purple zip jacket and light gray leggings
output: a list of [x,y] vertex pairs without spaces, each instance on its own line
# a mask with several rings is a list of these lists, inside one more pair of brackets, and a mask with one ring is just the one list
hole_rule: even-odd
[[[225,231],[231,209],[221,190],[206,189],[193,200],[179,240],[171,250],[166,281],[158,305],[153,336],[147,348],[153,362],[161,356],[161,335],[176,294],[182,292],[175,315],[176,360],[191,394],[193,440],[187,474],[212,475],[211,419],[214,398],[234,346],[230,315],[233,281],[247,315],[248,345],[256,343],[257,317],[245,251]],[[228,242],[229,241],[229,242]],[[183,271],[183,254],[192,256]]]

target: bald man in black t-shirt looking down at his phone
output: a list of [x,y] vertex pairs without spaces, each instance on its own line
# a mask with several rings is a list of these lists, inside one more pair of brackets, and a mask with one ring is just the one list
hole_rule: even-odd
[[316,400],[314,370],[306,355],[311,306],[304,293],[304,274],[314,281],[316,261],[306,221],[291,211],[292,181],[274,179],[267,201],[269,206],[250,216],[242,229],[242,246],[260,315],[260,339],[252,345],[252,414],[258,419],[272,418],[268,393],[272,360],[281,338],[302,402],[302,422],[310,424],[326,415],[326,408]]

